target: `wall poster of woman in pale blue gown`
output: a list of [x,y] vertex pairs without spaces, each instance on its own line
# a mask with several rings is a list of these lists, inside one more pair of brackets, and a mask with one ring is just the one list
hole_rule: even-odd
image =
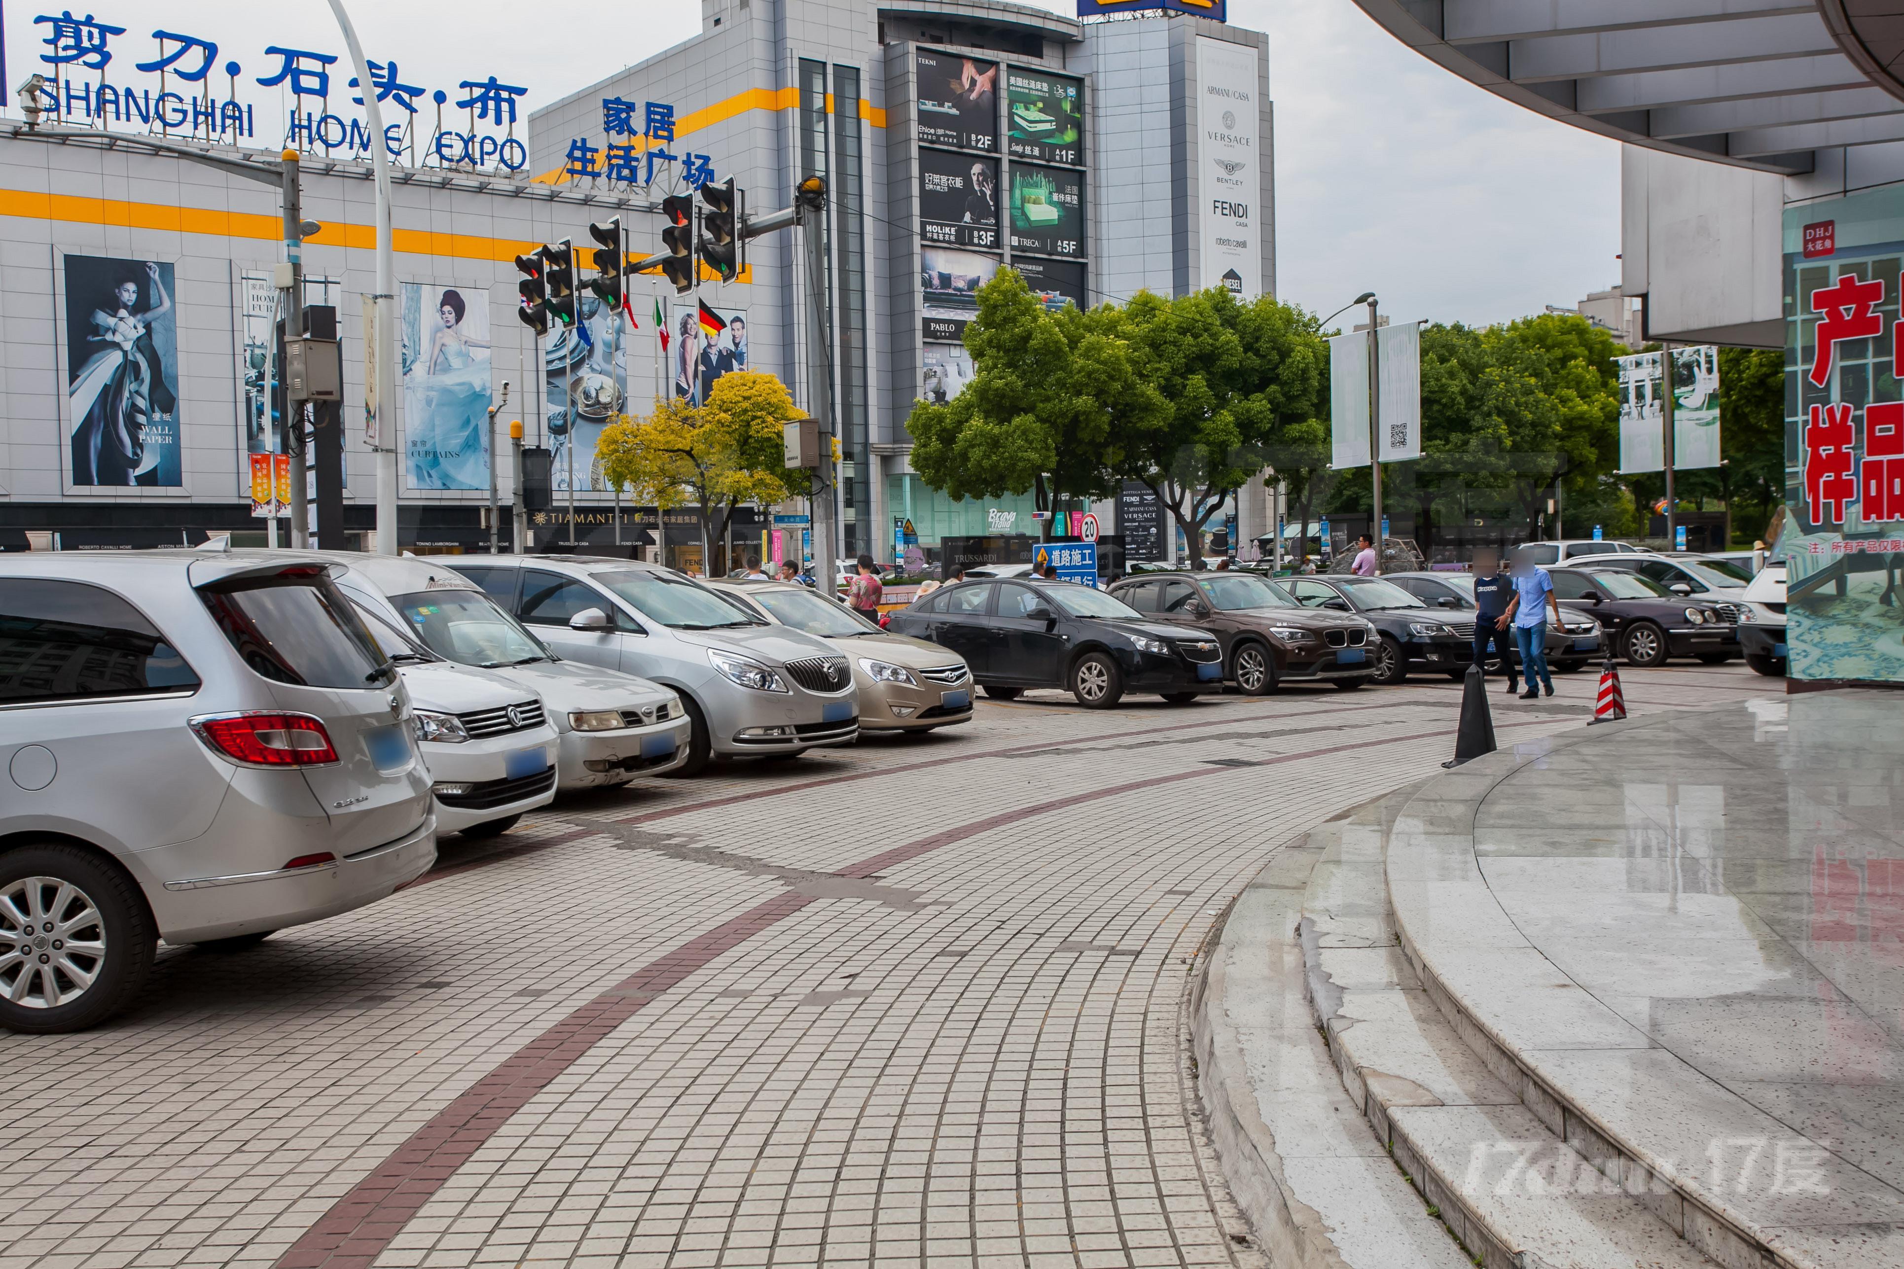
[[411,489],[489,487],[489,287],[406,282],[404,459]]

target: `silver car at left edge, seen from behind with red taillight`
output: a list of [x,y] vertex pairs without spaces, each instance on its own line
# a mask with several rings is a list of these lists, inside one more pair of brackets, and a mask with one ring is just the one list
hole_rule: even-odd
[[158,938],[236,949],[436,860],[409,696],[267,552],[0,556],[0,1025],[70,1031]]

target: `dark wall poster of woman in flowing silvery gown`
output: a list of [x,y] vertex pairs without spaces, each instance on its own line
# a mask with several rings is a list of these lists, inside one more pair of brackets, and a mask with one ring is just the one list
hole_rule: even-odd
[[69,255],[65,283],[72,483],[177,489],[171,264]]

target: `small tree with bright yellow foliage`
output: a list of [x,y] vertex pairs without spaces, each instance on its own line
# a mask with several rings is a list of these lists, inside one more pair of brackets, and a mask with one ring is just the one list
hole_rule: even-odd
[[642,419],[619,415],[602,428],[602,472],[636,502],[663,510],[695,508],[708,576],[727,571],[716,550],[743,502],[767,506],[803,487],[781,466],[783,426],[805,419],[773,375],[731,371],[714,381],[703,405],[685,398],[655,401]]

